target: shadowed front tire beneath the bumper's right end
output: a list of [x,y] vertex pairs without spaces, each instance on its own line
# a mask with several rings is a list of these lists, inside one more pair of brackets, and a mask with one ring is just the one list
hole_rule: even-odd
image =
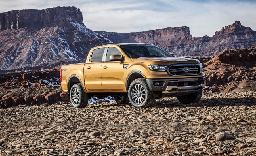
[[189,104],[189,103],[194,103],[194,102],[198,102],[203,94],[203,90],[200,89],[198,92],[196,93],[192,93],[192,94],[188,94],[188,95],[182,95],[182,96],[178,96],[177,99],[183,103],[183,104]]

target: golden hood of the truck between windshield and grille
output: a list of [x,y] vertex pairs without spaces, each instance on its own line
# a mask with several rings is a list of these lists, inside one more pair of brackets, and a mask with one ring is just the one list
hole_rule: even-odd
[[190,59],[185,57],[139,57],[132,59],[133,62],[150,63],[152,65],[170,65],[177,63],[200,63],[197,59]]

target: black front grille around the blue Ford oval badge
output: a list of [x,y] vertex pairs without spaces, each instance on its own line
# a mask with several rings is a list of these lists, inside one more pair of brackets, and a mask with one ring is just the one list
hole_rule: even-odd
[[[189,68],[190,71],[183,71],[182,69],[184,68]],[[198,64],[173,64],[169,66],[168,74],[172,76],[199,75],[201,74],[201,69]]]

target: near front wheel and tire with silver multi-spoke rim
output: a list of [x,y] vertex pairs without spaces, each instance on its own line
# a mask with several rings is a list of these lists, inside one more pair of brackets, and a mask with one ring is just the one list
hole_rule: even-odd
[[[139,87],[142,86],[143,89],[145,89],[145,90],[143,90],[142,94],[134,95],[135,93],[132,93],[132,92],[134,92],[135,90],[137,91],[137,89],[139,89],[139,88],[137,88],[137,86],[139,86]],[[142,99],[143,101],[140,101],[140,103],[139,103],[139,98],[138,98],[137,99],[138,101],[135,102],[136,97],[134,97],[134,96],[138,97],[140,95],[141,96],[143,95],[144,100],[142,98],[140,98],[140,100]],[[154,104],[154,101],[155,101],[155,97],[154,97],[152,91],[149,90],[148,84],[144,78],[135,79],[131,83],[131,85],[129,86],[129,89],[128,89],[128,98],[129,98],[129,101],[131,102],[131,104],[136,108],[149,108]]]

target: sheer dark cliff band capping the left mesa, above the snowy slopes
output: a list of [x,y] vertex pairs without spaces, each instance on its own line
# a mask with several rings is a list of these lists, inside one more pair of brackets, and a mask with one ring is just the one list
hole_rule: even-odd
[[68,22],[83,24],[82,12],[76,7],[56,7],[0,13],[0,31],[25,27],[42,29],[45,27],[67,26]]

